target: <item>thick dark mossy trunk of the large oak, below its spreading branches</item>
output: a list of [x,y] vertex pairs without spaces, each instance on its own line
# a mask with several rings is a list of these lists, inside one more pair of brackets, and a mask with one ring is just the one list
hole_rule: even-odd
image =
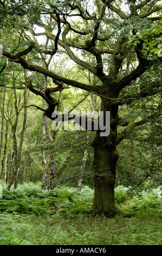
[[[111,95],[110,97],[117,95]],[[97,132],[92,143],[94,148],[94,202],[93,210],[108,217],[115,215],[115,166],[118,160],[116,151],[116,130],[118,125],[118,107],[111,106],[110,102],[102,99],[101,111],[110,111],[110,134],[100,136]],[[105,117],[104,117],[105,123]]]

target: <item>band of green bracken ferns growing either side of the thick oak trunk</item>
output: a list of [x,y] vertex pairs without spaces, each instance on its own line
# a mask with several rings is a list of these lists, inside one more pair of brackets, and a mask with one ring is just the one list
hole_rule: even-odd
[[[0,211],[73,218],[89,214],[92,209],[94,190],[88,186],[77,192],[75,187],[63,186],[57,186],[52,191],[40,190],[38,185],[30,182],[18,185],[17,190],[3,188]],[[142,191],[132,197],[130,188],[122,185],[115,188],[116,207],[128,216],[160,218],[161,199],[155,194],[158,190]]]

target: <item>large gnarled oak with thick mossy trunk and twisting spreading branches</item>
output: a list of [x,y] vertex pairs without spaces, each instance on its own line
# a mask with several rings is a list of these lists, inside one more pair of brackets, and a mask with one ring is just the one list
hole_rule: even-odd
[[[47,109],[37,107],[52,119],[59,102],[51,94],[72,86],[88,92],[93,92],[101,98],[100,110],[110,111],[110,133],[96,137],[92,143],[94,148],[94,202],[93,209],[99,214],[113,216],[115,214],[114,185],[115,166],[118,160],[116,145],[135,126],[143,125],[157,113],[151,113],[145,119],[123,122],[118,115],[119,106],[129,104],[134,99],[147,97],[159,92],[158,77],[154,81],[147,79],[149,71],[160,57],[148,47],[146,32],[152,26],[160,25],[159,1],[153,0],[53,0],[53,1],[1,1],[2,32],[6,24],[12,23],[13,31],[18,31],[15,49],[8,47],[3,56],[9,62],[22,65],[24,69],[43,74],[53,80],[54,86],[38,89],[32,78],[26,83],[27,88],[35,95],[41,96],[47,102]],[[40,28],[37,32],[36,27]],[[145,36],[142,36],[144,32]],[[36,38],[44,36],[51,44],[46,47]],[[158,38],[159,32],[152,33],[152,38]],[[21,43],[23,41],[23,44]],[[154,47],[158,48],[158,40]],[[49,54],[53,58],[65,53],[75,65],[95,76],[95,82],[80,81],[80,79],[64,77],[35,63],[32,54]],[[86,58],[90,56],[89,60]],[[85,60],[86,59],[86,60]],[[91,60],[94,59],[92,62]],[[68,65],[68,63],[67,63]],[[142,90],[132,85],[140,83],[143,77]],[[146,82],[147,81],[147,82]],[[141,86],[141,84],[140,84]],[[129,89],[131,88],[131,90]],[[104,116],[104,122],[106,115]],[[118,125],[125,129],[118,134]]]

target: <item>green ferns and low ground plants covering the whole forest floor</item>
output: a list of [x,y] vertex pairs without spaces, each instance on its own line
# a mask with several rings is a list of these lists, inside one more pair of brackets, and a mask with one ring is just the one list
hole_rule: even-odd
[[161,245],[159,190],[131,196],[129,188],[115,188],[120,214],[92,216],[94,191],[83,186],[40,184],[3,186],[0,199],[0,245]]

